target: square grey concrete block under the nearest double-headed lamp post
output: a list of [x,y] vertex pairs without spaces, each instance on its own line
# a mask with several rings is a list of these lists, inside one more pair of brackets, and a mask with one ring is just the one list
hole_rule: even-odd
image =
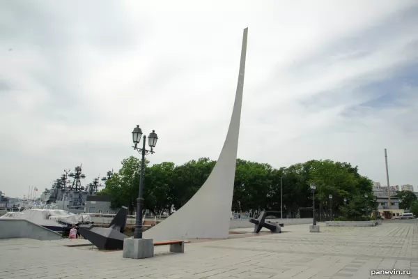
[[124,239],[123,257],[129,259],[154,257],[153,239]]

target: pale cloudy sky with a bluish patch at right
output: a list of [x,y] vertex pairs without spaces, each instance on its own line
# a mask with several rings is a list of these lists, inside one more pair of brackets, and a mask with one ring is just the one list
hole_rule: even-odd
[[330,159],[418,190],[418,2],[0,1],[0,190],[82,164],[90,183],[159,140],[151,163],[216,160],[249,28],[238,157]]

